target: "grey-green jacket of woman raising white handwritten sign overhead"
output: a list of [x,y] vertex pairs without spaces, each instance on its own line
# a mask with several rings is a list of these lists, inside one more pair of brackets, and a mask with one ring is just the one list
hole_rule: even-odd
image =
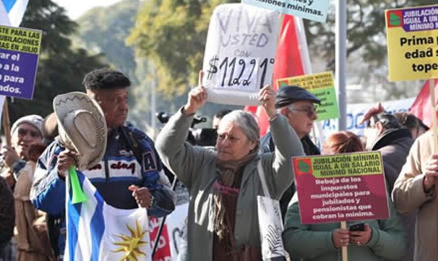
[[[184,142],[192,117],[177,112],[156,139],[162,162],[180,179],[190,193],[188,207],[188,260],[213,260],[214,200],[213,185],[218,178],[216,152]],[[278,115],[270,122],[276,142],[274,153],[257,156],[245,167],[237,199],[234,238],[238,246],[260,247],[257,195],[263,195],[257,174],[262,161],[266,183],[272,197],[279,199],[293,179],[292,156],[303,156],[300,139],[287,120]],[[281,141],[281,142],[280,142]]]

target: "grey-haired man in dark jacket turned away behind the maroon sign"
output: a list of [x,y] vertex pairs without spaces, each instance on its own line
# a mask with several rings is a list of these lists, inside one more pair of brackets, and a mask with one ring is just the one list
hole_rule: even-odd
[[[388,193],[391,194],[394,182],[406,163],[413,139],[410,130],[404,129],[393,115],[381,110],[370,109],[365,114],[367,128],[364,136],[367,139],[366,148],[380,151]],[[374,110],[374,111],[373,111]],[[403,261],[413,260],[415,213],[400,215],[406,229],[408,252]]]

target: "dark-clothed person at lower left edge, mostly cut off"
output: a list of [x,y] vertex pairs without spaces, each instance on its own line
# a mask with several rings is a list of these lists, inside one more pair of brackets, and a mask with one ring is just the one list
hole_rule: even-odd
[[15,225],[14,197],[4,179],[0,177],[0,260],[3,247],[12,237]]

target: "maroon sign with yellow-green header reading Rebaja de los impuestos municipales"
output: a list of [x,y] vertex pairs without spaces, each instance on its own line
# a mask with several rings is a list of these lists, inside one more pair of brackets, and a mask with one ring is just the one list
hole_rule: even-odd
[[294,157],[302,224],[387,219],[380,152]]

